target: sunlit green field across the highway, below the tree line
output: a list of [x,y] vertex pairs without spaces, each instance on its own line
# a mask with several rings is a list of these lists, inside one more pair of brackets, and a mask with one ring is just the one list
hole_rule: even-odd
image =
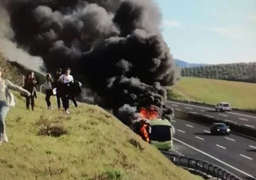
[[227,101],[233,108],[256,110],[255,83],[182,77],[175,86],[167,89],[169,98],[209,105]]

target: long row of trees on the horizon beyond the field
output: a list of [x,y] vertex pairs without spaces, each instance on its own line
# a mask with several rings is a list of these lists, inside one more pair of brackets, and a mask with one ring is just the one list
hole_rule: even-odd
[[181,69],[181,75],[186,77],[256,83],[256,62],[187,67]]

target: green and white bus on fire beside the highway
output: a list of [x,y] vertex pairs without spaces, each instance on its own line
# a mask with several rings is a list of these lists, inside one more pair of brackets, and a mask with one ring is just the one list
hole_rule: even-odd
[[160,118],[157,107],[140,108],[141,117],[134,123],[133,131],[144,141],[154,145],[159,150],[169,150],[173,147],[173,125],[165,118]]

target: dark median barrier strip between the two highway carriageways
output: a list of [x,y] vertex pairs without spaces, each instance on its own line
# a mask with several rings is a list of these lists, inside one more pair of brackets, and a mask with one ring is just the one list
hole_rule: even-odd
[[256,138],[256,128],[248,127],[236,122],[232,122],[229,120],[222,120],[215,117],[208,117],[201,114],[195,114],[188,111],[182,111],[175,109],[175,117],[181,118],[187,121],[193,121],[200,124],[211,125],[215,122],[222,122],[229,126],[230,133],[236,133],[244,136],[248,136],[251,138]]

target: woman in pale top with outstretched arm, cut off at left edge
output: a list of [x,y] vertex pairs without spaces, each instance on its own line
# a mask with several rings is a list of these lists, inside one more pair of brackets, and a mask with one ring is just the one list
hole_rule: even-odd
[[2,145],[3,140],[8,142],[8,138],[6,136],[5,117],[9,111],[9,107],[15,106],[15,98],[9,89],[18,91],[26,96],[31,95],[29,91],[3,79],[3,71],[0,67],[0,145]]

